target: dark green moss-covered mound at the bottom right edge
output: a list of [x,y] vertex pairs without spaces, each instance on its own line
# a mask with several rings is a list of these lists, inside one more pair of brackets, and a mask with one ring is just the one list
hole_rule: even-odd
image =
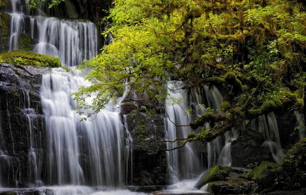
[[306,138],[295,143],[288,150],[281,166],[287,171],[303,170],[306,171]]

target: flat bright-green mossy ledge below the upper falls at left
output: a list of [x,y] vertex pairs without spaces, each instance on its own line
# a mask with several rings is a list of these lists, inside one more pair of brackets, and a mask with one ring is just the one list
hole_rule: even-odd
[[61,67],[61,61],[57,57],[34,53],[31,51],[14,50],[0,53],[0,59],[4,63],[24,66]]

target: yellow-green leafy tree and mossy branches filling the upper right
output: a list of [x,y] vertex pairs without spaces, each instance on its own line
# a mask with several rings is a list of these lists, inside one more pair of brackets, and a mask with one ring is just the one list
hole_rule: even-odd
[[[168,75],[197,88],[230,89],[221,109],[190,125],[201,128],[181,139],[212,140],[271,111],[296,110],[306,116],[306,12],[295,0],[115,0],[110,10],[114,41],[90,62],[90,87],[74,94],[79,108],[99,112],[118,91],[152,91],[166,97]],[[291,93],[284,90],[288,87]],[[92,104],[85,98],[97,97]],[[81,113],[83,114],[83,113]],[[210,122],[210,131],[204,127]],[[176,142],[176,141],[174,141]]]

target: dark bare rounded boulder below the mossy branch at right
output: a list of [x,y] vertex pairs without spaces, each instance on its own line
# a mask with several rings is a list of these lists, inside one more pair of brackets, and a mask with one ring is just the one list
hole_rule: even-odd
[[265,147],[262,147],[264,138],[262,133],[246,129],[231,144],[232,166],[244,167],[262,161],[274,162],[272,154]]

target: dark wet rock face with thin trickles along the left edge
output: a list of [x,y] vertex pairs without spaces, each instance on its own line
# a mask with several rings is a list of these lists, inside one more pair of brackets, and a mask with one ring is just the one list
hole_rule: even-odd
[[[40,87],[48,68],[0,63],[0,158],[2,185],[25,187],[29,181],[29,119],[36,158],[43,155],[44,116]],[[38,144],[40,143],[40,144]],[[16,177],[11,173],[14,172]]]

